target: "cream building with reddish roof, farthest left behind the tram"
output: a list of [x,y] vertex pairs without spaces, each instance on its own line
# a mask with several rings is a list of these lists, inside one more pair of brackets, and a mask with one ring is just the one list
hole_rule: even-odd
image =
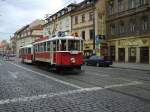
[[19,49],[22,46],[33,43],[43,35],[43,20],[35,20],[31,24],[26,25],[15,32],[16,39],[16,53],[19,55]]

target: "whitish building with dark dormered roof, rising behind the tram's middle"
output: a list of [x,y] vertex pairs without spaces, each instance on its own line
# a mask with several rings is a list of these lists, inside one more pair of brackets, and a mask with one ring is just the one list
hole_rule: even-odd
[[71,12],[76,8],[76,4],[70,4],[57,13],[46,19],[43,33],[45,36],[57,35],[59,31],[71,34]]

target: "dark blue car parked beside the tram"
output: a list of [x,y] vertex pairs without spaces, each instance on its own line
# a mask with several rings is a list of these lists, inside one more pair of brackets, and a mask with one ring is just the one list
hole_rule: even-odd
[[100,66],[109,67],[110,65],[113,64],[113,62],[111,60],[105,59],[104,57],[91,56],[91,57],[89,57],[89,59],[84,60],[84,64],[91,65],[91,66],[97,66],[97,67],[100,67]]

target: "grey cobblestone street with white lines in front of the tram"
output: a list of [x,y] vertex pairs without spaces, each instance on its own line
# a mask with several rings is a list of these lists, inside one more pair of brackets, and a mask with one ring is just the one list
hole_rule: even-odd
[[43,68],[0,61],[0,112],[150,112],[148,71]]

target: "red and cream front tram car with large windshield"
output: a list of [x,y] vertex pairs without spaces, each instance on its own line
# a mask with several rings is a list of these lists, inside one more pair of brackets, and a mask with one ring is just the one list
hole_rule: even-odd
[[[32,49],[33,54],[30,55],[30,59],[35,63],[44,62],[49,64],[50,67],[60,70],[65,68],[81,69],[83,64],[83,40],[81,37],[55,36],[33,43],[31,52]],[[26,60],[25,55],[21,58]]]

